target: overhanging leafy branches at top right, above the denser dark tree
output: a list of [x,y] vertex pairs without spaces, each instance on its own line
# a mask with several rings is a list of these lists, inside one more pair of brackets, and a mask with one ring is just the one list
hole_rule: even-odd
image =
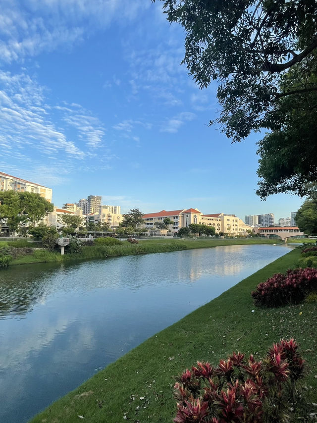
[[288,94],[277,85],[283,72],[315,60],[315,0],[160,1],[167,20],[185,28],[190,75],[201,88],[219,81],[215,122],[233,141],[262,128],[266,111]]

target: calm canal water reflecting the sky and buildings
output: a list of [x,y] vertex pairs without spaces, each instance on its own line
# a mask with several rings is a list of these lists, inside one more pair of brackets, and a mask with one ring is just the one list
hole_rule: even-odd
[[293,246],[245,245],[0,271],[0,422],[27,422]]

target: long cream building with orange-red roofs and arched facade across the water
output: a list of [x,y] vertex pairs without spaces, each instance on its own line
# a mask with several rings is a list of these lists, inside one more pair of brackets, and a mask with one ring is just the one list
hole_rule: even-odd
[[235,214],[203,214],[198,209],[162,210],[156,213],[146,213],[143,216],[144,227],[152,231],[154,235],[159,234],[155,223],[163,222],[165,217],[169,217],[173,222],[169,225],[169,230],[173,236],[178,233],[180,228],[188,227],[191,223],[213,226],[216,233],[224,232],[232,236],[246,235],[247,229],[250,229],[250,226],[246,225]]

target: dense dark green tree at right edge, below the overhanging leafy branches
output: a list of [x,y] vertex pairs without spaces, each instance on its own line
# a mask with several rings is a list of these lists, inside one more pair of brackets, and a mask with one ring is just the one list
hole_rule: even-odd
[[[282,81],[287,81],[293,92],[308,85],[304,66],[295,66],[284,75]],[[315,67],[312,87],[317,86]],[[258,142],[258,175],[262,179],[257,194],[262,199],[280,192],[309,194],[310,183],[317,180],[317,91],[281,98],[266,126],[272,132]]]

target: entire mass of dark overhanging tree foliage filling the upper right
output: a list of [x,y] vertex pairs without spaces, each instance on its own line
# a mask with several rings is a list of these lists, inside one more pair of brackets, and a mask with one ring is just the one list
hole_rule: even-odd
[[186,31],[190,75],[201,88],[218,81],[210,124],[233,142],[272,131],[259,142],[257,194],[305,195],[317,180],[316,0],[160,1]]

